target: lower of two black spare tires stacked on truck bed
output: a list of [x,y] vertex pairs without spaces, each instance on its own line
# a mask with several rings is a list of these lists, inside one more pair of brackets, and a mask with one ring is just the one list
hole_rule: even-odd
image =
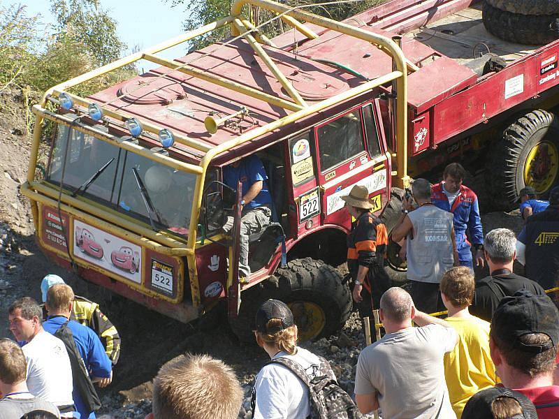
[[512,43],[544,45],[559,38],[559,15],[522,15],[484,3],[482,20],[491,34]]

